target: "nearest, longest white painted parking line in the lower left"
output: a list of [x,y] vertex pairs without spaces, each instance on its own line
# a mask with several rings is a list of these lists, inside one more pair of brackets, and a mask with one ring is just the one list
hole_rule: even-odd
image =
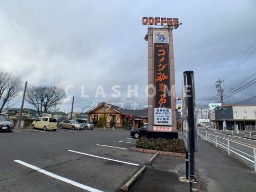
[[81,184],[81,183],[77,183],[77,182],[75,182],[75,181],[73,181],[73,180],[70,180],[70,179],[67,179],[67,178],[58,176],[58,175],[56,175],[56,174],[50,173],[50,172],[48,172],[47,170],[44,170],[44,169],[41,169],[41,168],[36,167],[36,166],[34,166],[34,165],[28,164],[28,163],[26,163],[26,162],[24,162],[24,161],[20,161],[20,160],[14,160],[14,161],[15,161],[16,163],[22,164],[22,165],[24,165],[24,166],[26,166],[26,167],[32,168],[32,169],[34,169],[34,170],[37,170],[37,172],[40,172],[40,173],[42,173],[42,174],[48,175],[48,176],[50,176],[50,177],[53,177],[53,178],[55,178],[55,179],[64,181],[64,182],[69,183],[69,184],[71,184],[71,185],[74,185],[74,186],[76,186],[76,187],[79,187],[79,188],[82,188],[82,189],[86,189],[86,190],[89,190],[89,191],[91,191],[91,192],[103,192],[103,191],[101,191],[101,190],[98,190],[98,189],[89,187],[89,186],[87,186],[87,185],[83,185],[83,184]]

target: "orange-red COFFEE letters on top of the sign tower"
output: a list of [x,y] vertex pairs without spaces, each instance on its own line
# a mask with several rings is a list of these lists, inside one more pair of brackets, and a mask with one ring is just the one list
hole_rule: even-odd
[[143,17],[143,25],[167,25],[167,26],[179,26],[178,18],[165,18],[165,17]]

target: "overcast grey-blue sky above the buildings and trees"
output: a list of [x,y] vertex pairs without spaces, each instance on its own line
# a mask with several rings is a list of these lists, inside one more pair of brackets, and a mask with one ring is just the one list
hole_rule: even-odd
[[[109,101],[125,103],[127,109],[136,103],[143,109],[147,104],[147,41],[143,39],[147,26],[142,25],[142,17],[179,18],[183,25],[173,30],[176,93],[181,95],[183,72],[192,70],[197,103],[207,105],[218,100],[214,86],[219,77],[227,93],[255,79],[255,10],[254,0],[2,0],[0,65],[22,75],[29,86],[66,89],[68,95],[75,95],[77,112]],[[121,86],[118,98],[113,97],[115,85]],[[129,85],[138,86],[138,97],[127,95]],[[225,102],[254,97],[255,88],[252,84]],[[70,112],[71,102],[68,97],[59,110]],[[19,108],[21,97],[10,105]],[[31,108],[27,103],[25,107]]]

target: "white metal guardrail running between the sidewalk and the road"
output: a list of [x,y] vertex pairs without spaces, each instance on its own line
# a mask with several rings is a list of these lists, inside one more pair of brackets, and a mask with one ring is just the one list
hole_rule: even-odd
[[[236,155],[242,157],[243,159],[246,159],[247,161],[253,163],[254,164],[254,171],[256,172],[256,148],[255,147],[251,147],[251,146],[248,146],[248,145],[236,142],[236,141],[232,141],[232,140],[229,140],[229,139],[217,136],[217,135],[213,135],[213,134],[207,133],[207,131],[205,132],[204,135],[200,134],[200,130],[198,130],[197,133],[198,133],[198,136],[200,136],[202,139],[204,139],[208,142],[215,143],[216,147],[221,146],[221,147],[225,148],[228,152],[228,155],[230,155],[230,152],[231,152],[231,153],[236,154]],[[211,138],[210,135],[213,136],[213,138]],[[219,140],[218,140],[218,138],[219,138]],[[227,140],[227,144],[221,142],[220,139]],[[253,151],[253,156],[250,155],[250,154],[244,153],[244,152],[238,150],[237,148],[231,147],[230,142],[233,142],[233,143],[251,148],[252,151]],[[249,159],[250,157],[253,158],[254,160]]]

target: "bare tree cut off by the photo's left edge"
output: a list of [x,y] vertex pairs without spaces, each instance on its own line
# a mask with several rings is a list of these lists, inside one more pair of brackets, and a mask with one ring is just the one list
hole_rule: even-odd
[[22,91],[22,77],[0,68],[0,113],[5,104]]

